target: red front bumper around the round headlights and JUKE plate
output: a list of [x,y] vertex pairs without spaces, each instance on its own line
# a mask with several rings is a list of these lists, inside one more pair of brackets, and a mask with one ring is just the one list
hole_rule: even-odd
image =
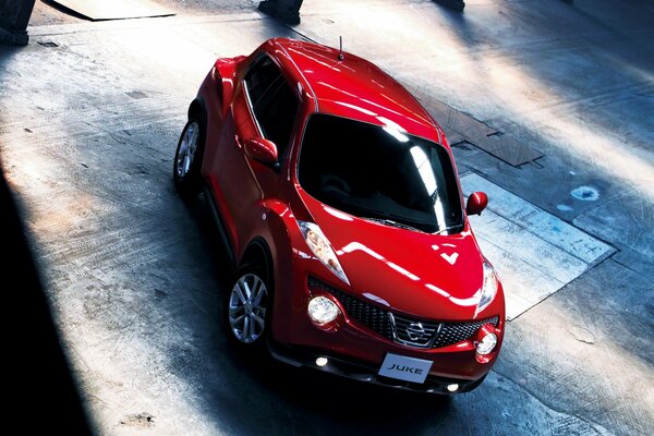
[[[457,392],[475,388],[497,360],[505,327],[501,289],[496,300],[485,311],[487,315],[484,317],[497,319],[494,331],[498,343],[491,354],[479,359],[476,341],[481,339],[481,325],[473,326],[474,331],[465,335],[464,338],[448,334],[448,338],[453,340],[448,339],[441,344],[416,348],[398,343],[395,334],[388,334],[378,323],[377,312],[373,314],[368,311],[371,307],[375,311],[373,302],[360,300],[361,304],[350,304],[341,293],[335,292],[335,289],[341,288],[342,283],[331,277],[331,272],[325,272],[324,265],[310,256],[293,256],[291,270],[277,271],[278,281],[270,331],[272,341],[270,351],[277,360],[361,382],[435,393],[450,393],[446,387],[453,383],[459,384]],[[312,277],[325,286],[310,284]],[[315,295],[332,298],[341,308],[342,316],[337,318],[335,328],[322,329],[310,320],[306,307],[311,298]],[[362,304],[368,308],[363,307]],[[390,311],[390,308],[376,307],[383,312]],[[365,318],[368,315],[371,317]],[[424,384],[379,376],[379,367],[388,353],[432,361]],[[323,367],[316,365],[316,359],[319,356],[329,359],[329,364]]]

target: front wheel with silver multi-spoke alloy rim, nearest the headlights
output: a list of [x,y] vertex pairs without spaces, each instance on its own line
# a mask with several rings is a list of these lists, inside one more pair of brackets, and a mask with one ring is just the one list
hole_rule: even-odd
[[272,289],[265,271],[254,264],[237,269],[226,296],[225,324],[230,341],[243,350],[264,350],[272,306]]

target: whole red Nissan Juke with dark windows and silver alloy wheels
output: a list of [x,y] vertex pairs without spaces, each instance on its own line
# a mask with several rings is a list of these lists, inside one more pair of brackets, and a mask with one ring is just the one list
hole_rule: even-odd
[[479,386],[505,327],[497,276],[438,124],[353,55],[270,39],[218,59],[174,182],[205,198],[237,266],[230,337],[278,360],[426,392]]

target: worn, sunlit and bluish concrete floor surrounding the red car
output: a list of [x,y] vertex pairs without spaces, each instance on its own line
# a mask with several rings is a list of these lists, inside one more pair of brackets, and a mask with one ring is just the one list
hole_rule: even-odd
[[[307,0],[293,28],[255,1],[159,3],[178,14],[90,23],[37,2],[31,44],[0,47],[0,158],[98,434],[654,433],[651,2],[469,0],[458,14]],[[215,58],[272,36],[342,36],[427,109],[445,102],[537,149],[520,167],[455,153],[462,174],[610,247],[509,323],[475,391],[373,389],[228,347],[222,249],[202,205],[175,195],[172,157]]]

